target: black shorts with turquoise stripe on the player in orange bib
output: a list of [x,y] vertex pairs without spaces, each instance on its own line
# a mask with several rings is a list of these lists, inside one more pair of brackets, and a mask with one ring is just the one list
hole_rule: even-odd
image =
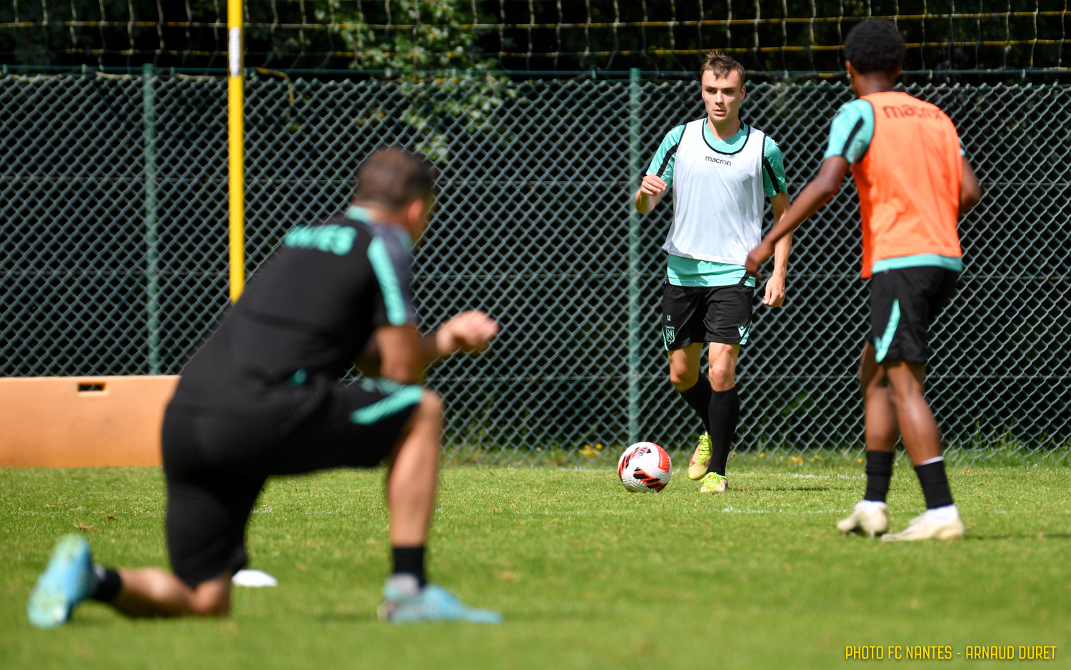
[[875,272],[870,280],[874,359],[925,363],[930,326],[952,298],[959,279],[959,272],[938,267]]

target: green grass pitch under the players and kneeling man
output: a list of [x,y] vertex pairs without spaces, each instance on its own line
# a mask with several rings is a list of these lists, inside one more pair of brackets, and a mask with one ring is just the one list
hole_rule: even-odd
[[[679,461],[678,461],[679,462]],[[26,622],[55,539],[84,528],[106,564],[166,565],[161,473],[0,470],[0,667],[831,668],[846,645],[1056,645],[1071,667],[1071,468],[956,466],[968,537],[841,537],[862,466],[734,462],[699,497],[678,474],[627,494],[606,471],[442,473],[433,580],[500,609],[501,626],[375,621],[388,570],[381,472],[273,480],[248,532],[251,567],[227,620],[132,621],[96,604],[58,630]],[[897,467],[893,530],[921,511]],[[869,661],[873,662],[873,661]],[[888,661],[887,661],[888,662]],[[1025,662],[1025,661],[1024,661]],[[1045,662],[1045,661],[1043,661]]]

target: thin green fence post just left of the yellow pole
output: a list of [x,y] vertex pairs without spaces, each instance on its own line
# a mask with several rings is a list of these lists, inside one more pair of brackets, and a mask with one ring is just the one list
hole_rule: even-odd
[[160,374],[160,268],[156,236],[156,116],[152,64],[141,66],[145,136],[145,302],[149,374]]

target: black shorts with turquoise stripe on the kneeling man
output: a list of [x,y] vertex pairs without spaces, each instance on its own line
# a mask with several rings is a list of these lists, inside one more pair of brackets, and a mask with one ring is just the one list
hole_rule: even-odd
[[191,587],[246,563],[245,523],[270,475],[374,467],[390,455],[423,388],[365,379],[332,387],[296,427],[278,413],[227,417],[167,407],[164,475],[171,569]]

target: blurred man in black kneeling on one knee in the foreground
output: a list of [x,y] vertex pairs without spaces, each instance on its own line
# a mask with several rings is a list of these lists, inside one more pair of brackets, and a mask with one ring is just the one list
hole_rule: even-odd
[[[87,598],[132,616],[225,615],[269,476],[383,460],[394,572],[380,619],[500,621],[424,575],[442,401],[418,384],[434,359],[482,351],[498,331],[470,311],[418,334],[409,248],[427,223],[434,178],[424,160],[379,149],[359,167],[348,210],[286,235],[185,367],[165,413],[174,572],[96,565],[85,538],[66,536],[30,594],[32,624],[63,624]],[[359,357],[382,376],[340,385]]]

